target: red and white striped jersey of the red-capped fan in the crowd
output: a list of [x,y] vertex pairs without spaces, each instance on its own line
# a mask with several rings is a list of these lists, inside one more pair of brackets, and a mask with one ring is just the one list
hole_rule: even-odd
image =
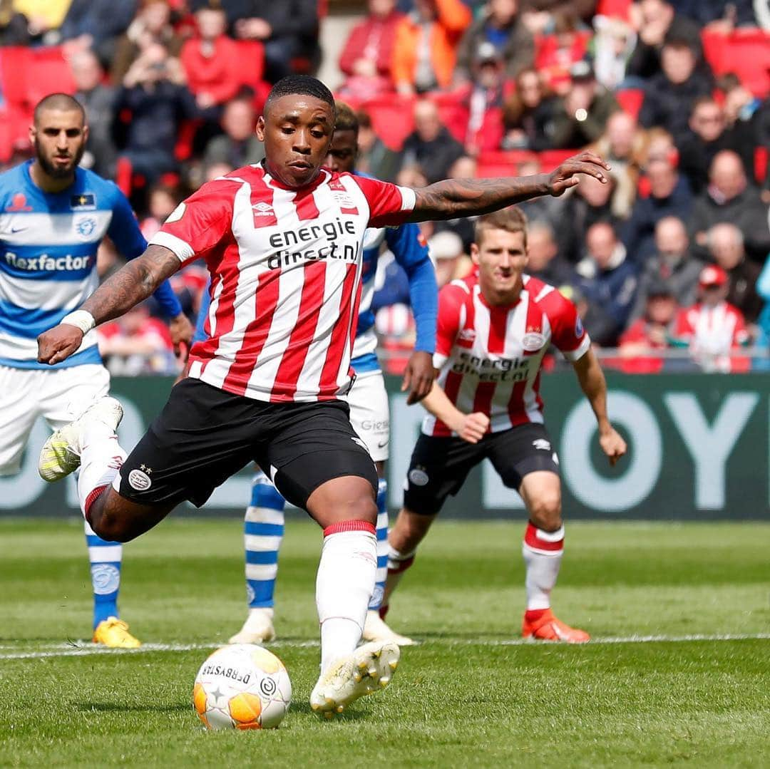
[[747,368],[746,359],[729,356],[731,349],[748,342],[748,330],[743,313],[728,302],[714,307],[697,303],[681,309],[675,336],[690,343],[693,358],[705,369],[729,372]]

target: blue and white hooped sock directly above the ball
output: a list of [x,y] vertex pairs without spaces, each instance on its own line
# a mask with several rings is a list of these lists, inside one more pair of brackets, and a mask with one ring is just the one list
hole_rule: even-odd
[[283,540],[286,500],[264,473],[254,476],[251,504],[246,508],[243,541],[246,547],[246,600],[249,609],[272,607],[278,574],[278,550]]

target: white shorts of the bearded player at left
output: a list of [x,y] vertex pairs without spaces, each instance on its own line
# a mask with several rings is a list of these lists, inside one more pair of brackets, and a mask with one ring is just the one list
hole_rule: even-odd
[[0,476],[18,473],[39,416],[59,430],[108,393],[109,371],[97,363],[66,369],[0,366]]

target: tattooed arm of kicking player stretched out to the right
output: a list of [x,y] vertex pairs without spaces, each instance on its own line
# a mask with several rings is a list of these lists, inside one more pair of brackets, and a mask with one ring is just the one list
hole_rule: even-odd
[[504,179],[444,179],[428,187],[416,189],[417,195],[410,222],[427,219],[458,219],[477,216],[506,206],[514,206],[541,195],[560,196],[574,187],[584,173],[607,183],[607,163],[594,152],[581,152],[565,160],[551,174],[514,176]]

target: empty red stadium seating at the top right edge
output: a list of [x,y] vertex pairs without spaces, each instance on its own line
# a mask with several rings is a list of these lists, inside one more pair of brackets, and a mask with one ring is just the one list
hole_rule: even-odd
[[755,96],[770,95],[770,33],[738,28],[729,35],[705,30],[703,52],[715,75],[735,72]]

